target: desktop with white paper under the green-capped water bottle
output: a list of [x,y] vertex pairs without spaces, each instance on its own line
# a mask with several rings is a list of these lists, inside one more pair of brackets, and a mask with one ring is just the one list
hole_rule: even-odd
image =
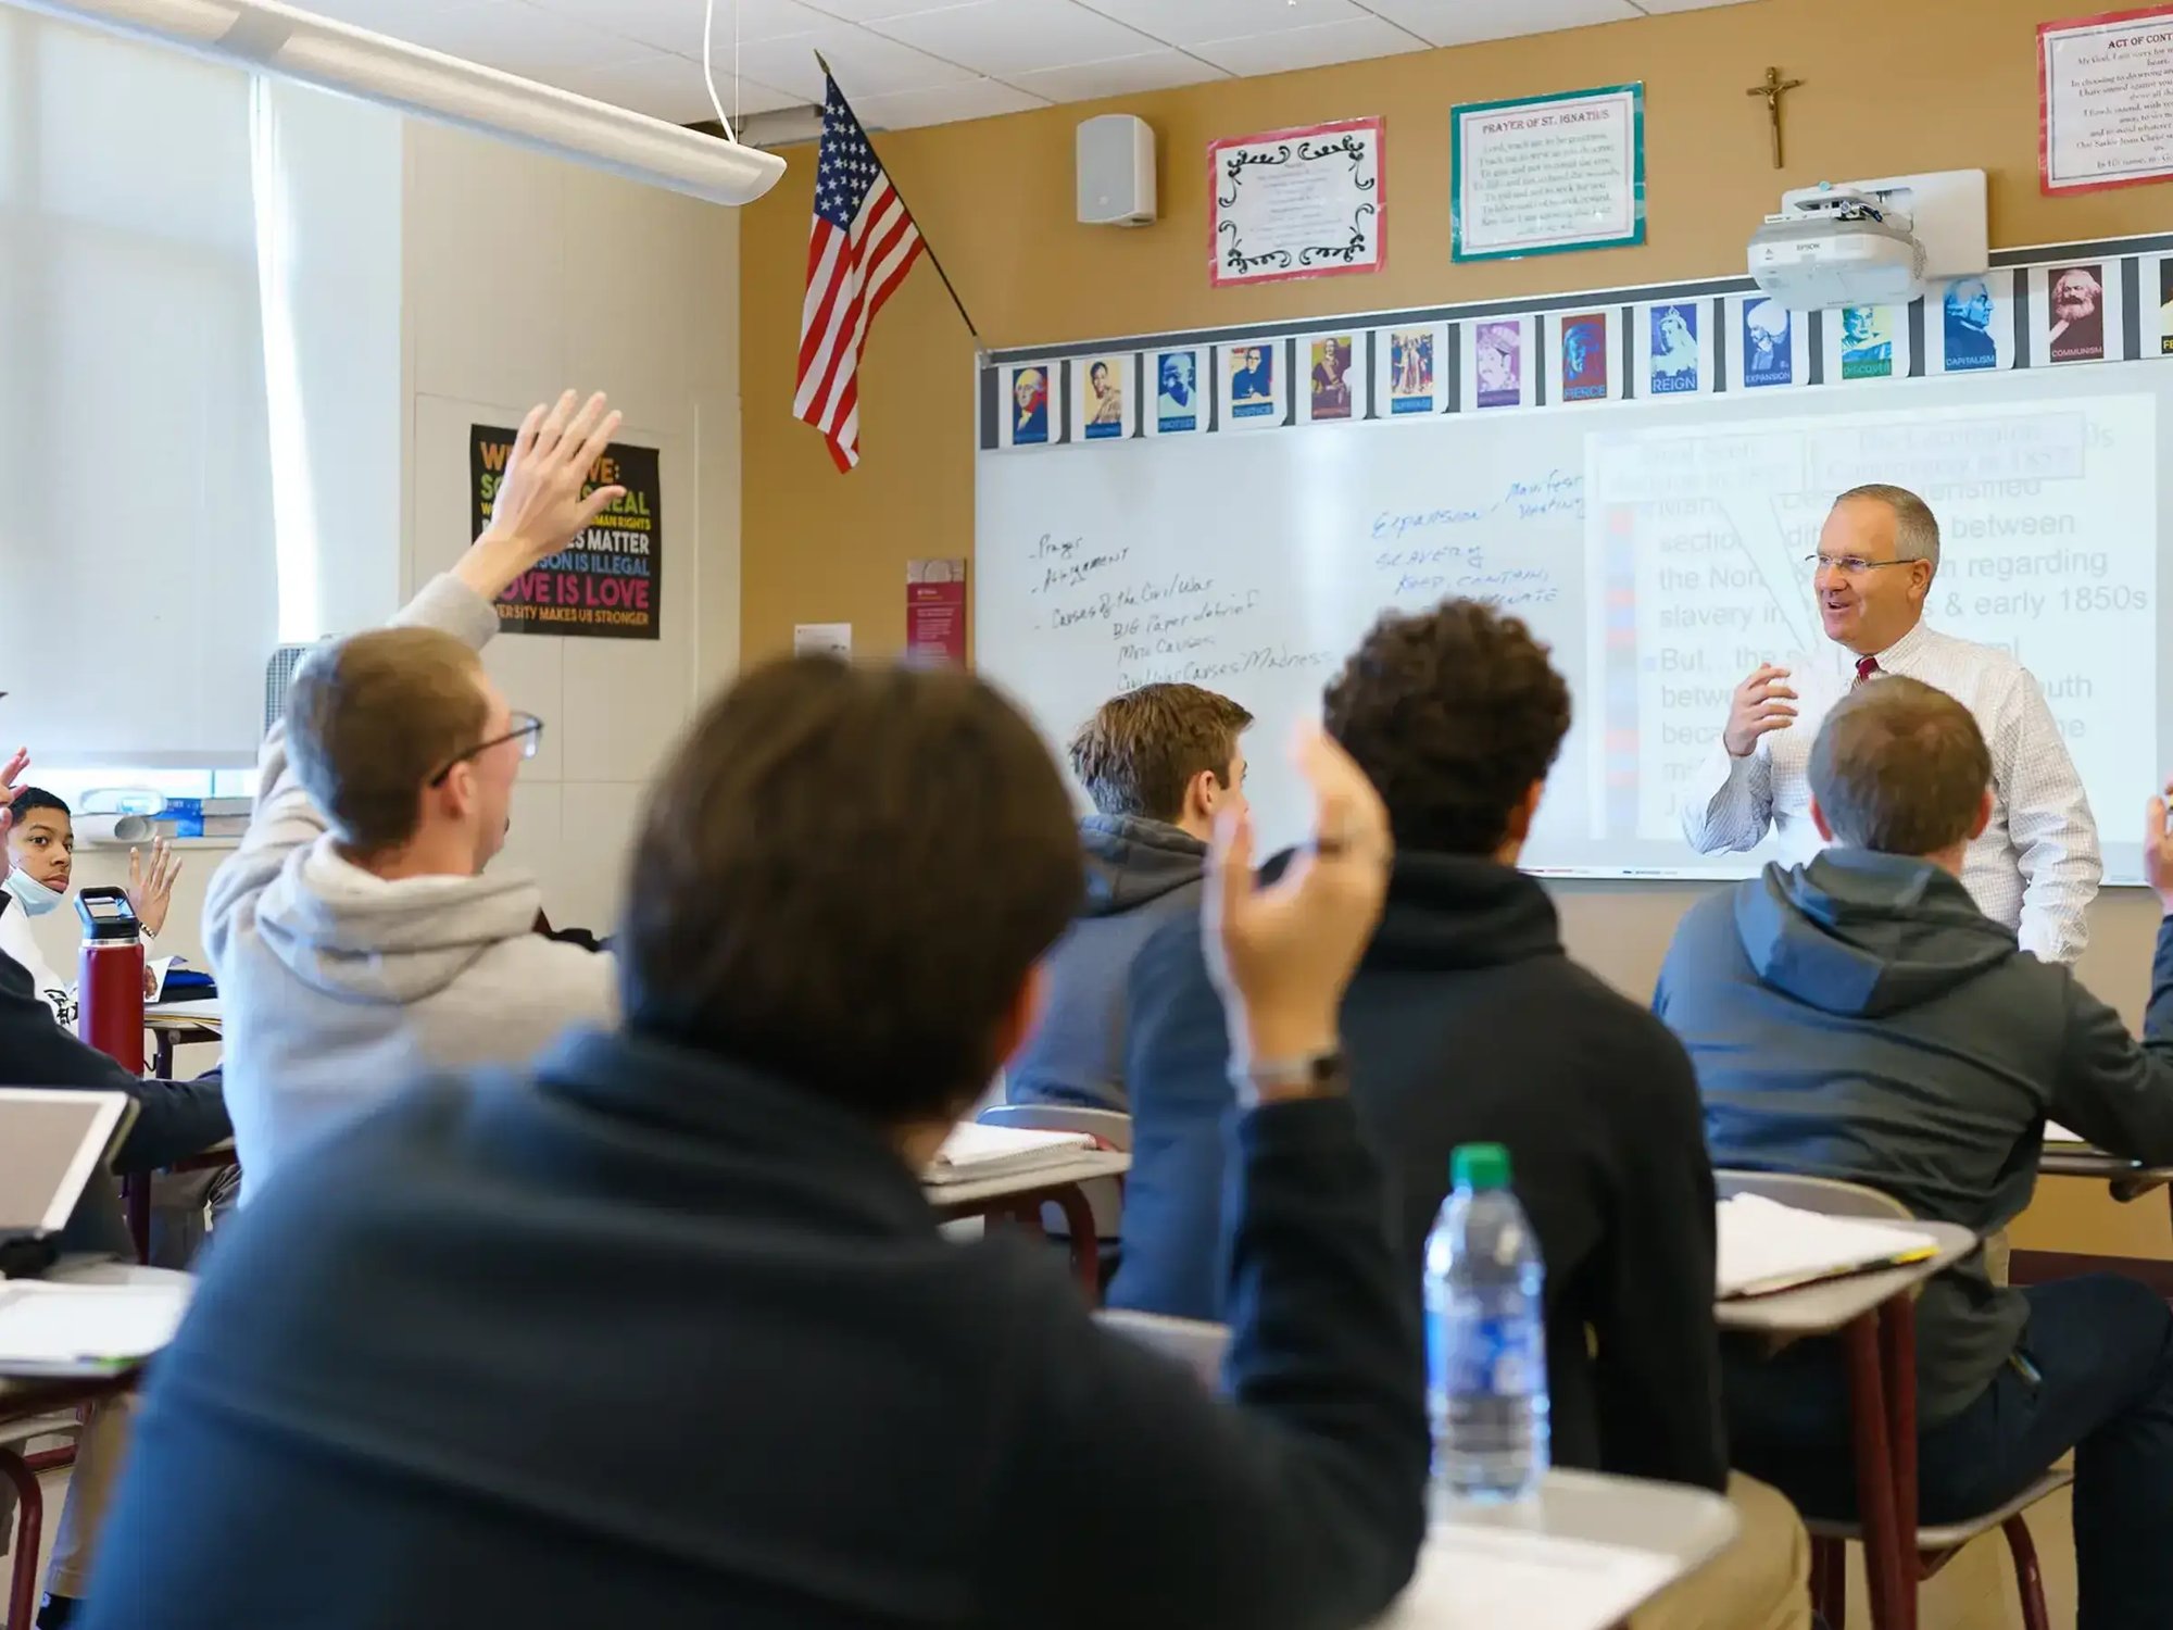
[[[1608,1630],[1736,1528],[1706,1489],[1549,1471],[1528,1504],[1439,1510],[1417,1580],[1376,1630],[1499,1630],[1504,1608],[1517,1630]],[[1610,1560],[1628,1573],[1610,1578]]]

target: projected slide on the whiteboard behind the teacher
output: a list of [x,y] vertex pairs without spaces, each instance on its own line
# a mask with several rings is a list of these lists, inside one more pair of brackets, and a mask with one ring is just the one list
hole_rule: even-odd
[[[1599,430],[1586,439],[1593,839],[1680,843],[1678,804],[1758,663],[1841,667],[1812,563],[1834,493],[1895,482],[1945,548],[1927,619],[2043,685],[2108,839],[2158,754],[2158,398]],[[2123,843],[2123,839],[2127,839]]]

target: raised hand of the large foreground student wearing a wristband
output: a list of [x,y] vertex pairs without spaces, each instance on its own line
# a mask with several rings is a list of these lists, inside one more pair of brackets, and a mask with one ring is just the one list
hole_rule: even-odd
[[1365,772],[1319,728],[1299,737],[1295,758],[1312,785],[1312,845],[1263,889],[1252,876],[1252,817],[1226,815],[1208,856],[1208,971],[1241,1063],[1336,1045],[1343,987],[1389,891],[1389,811]]

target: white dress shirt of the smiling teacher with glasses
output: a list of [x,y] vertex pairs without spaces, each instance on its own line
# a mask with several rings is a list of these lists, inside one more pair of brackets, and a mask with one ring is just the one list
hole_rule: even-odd
[[[1841,645],[1832,650],[1791,669],[1793,726],[1762,735],[1745,758],[1712,743],[1682,802],[1682,835],[1693,850],[1751,850],[1769,826],[1782,865],[1823,848],[1810,824],[1810,745],[1827,709],[1856,680],[1856,659]],[[1880,672],[1934,685],[1977,719],[1993,752],[1993,819],[1969,845],[1962,885],[1986,917],[2017,932],[2023,950],[2073,963],[2090,937],[2086,913],[2103,861],[2082,776],[2038,682],[2008,652],[1921,622],[1880,652]]]

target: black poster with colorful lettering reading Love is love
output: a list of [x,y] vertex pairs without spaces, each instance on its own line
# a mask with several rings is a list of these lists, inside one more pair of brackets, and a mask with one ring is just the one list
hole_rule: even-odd
[[[491,524],[498,482],[506,476],[513,430],[476,424],[467,469],[476,487],[476,537]],[[571,635],[576,639],[656,639],[663,624],[663,491],[656,448],[613,441],[589,472],[585,491],[624,487],[626,496],[595,526],[498,595],[504,635]]]

